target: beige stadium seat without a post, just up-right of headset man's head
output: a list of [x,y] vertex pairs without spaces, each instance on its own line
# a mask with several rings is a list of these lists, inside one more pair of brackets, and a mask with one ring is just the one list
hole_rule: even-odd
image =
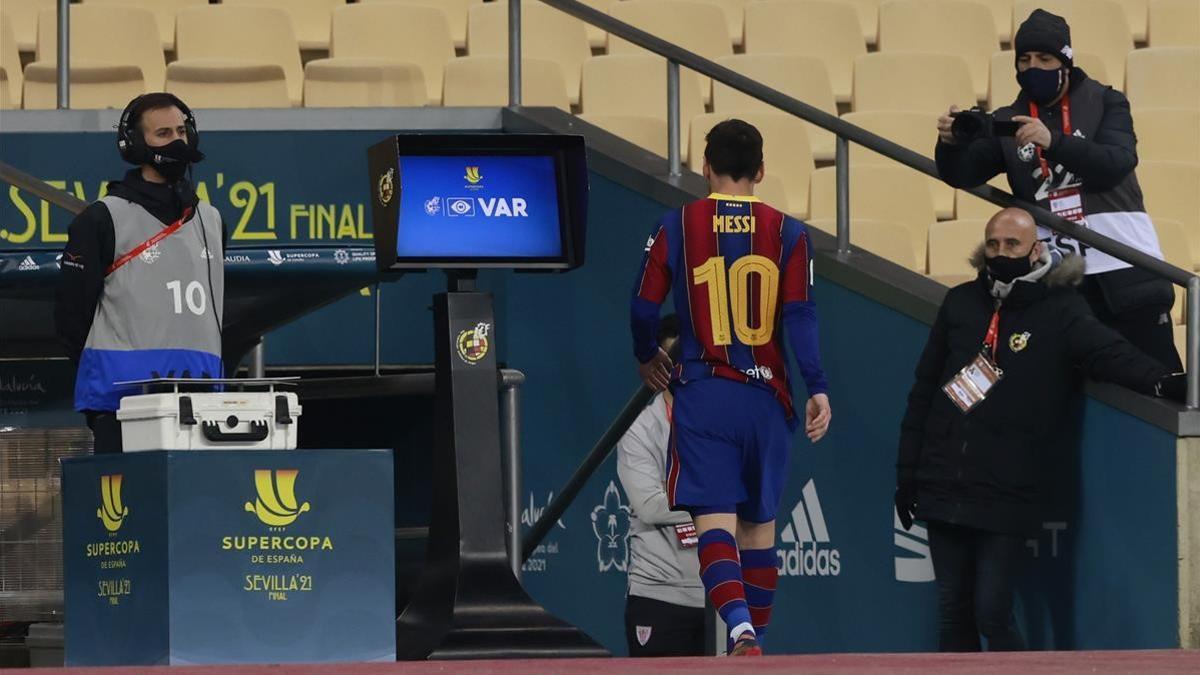
[[[252,5],[209,5],[179,12],[175,23],[175,52],[179,60],[167,68],[167,77],[182,90],[214,100],[229,78],[229,95],[221,100],[245,98],[262,107],[274,94],[250,91],[254,83],[271,82],[268,73],[278,66],[287,82],[288,101],[299,106],[304,95],[300,46],[287,12]],[[203,74],[209,68],[211,72]],[[274,90],[274,86],[269,89]]]

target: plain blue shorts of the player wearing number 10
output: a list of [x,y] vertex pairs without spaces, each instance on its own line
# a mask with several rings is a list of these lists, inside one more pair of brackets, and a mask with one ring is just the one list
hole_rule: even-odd
[[724,377],[673,388],[667,498],[676,510],[728,510],[775,519],[787,480],[792,430],[764,388]]

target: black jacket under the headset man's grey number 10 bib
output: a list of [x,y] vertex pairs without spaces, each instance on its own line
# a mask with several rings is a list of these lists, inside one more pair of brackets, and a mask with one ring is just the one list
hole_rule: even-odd
[[[162,221],[163,227],[182,217],[185,208],[197,204],[196,192],[186,181],[174,186],[148,183],[138,168],[110,183],[108,193],[145,208]],[[113,250],[113,227],[108,207],[103,202],[94,202],[67,228],[67,246],[62,251],[62,269],[55,293],[54,323],[59,342],[77,364],[96,316],[96,305],[104,287],[104,270],[118,255],[125,253]]]

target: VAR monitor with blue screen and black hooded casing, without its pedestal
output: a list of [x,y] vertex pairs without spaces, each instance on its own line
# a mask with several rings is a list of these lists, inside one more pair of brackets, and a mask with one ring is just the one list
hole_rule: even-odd
[[583,264],[583,138],[401,133],[367,151],[379,269]]

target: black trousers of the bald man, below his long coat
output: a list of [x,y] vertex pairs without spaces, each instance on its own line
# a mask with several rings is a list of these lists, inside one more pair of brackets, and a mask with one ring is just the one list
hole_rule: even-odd
[[1024,651],[1013,616],[1013,586],[1025,539],[956,525],[929,522],[937,577],[940,651]]

